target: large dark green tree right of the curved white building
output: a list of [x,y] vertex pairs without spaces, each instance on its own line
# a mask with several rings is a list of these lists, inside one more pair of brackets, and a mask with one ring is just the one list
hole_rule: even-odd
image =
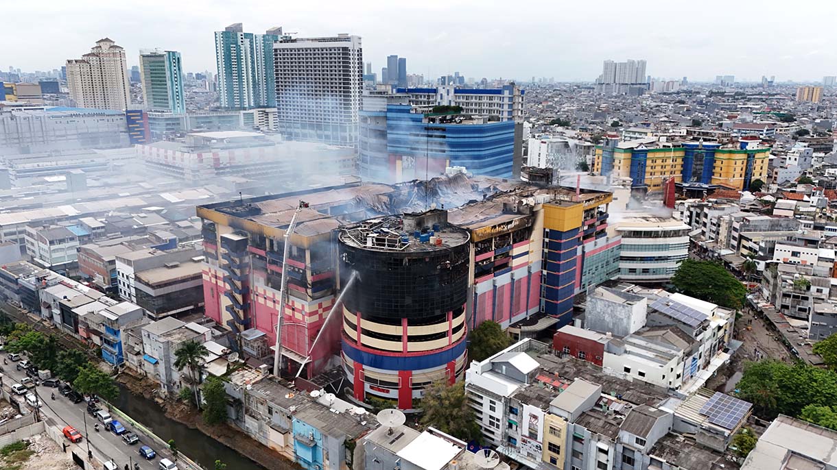
[[685,259],[680,263],[671,283],[682,294],[712,304],[740,309],[747,289],[721,264]]

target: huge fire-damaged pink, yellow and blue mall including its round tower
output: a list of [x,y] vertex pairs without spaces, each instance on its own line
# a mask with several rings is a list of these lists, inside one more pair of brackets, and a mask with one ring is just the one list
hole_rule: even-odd
[[[388,253],[391,247],[386,244],[372,250],[368,234],[354,240],[346,233],[351,227],[357,230],[357,222],[378,223],[382,217],[396,217],[406,225],[413,216],[404,212],[417,206],[403,204],[416,203],[416,191],[424,188],[424,182],[353,183],[198,207],[203,218],[207,316],[228,326],[236,337],[262,337],[273,345],[281,313],[286,371],[295,373],[304,367],[302,376],[311,377],[340,355],[357,399],[385,397],[408,408],[422,396],[425,382],[461,375],[467,364],[468,330],[493,320],[518,335],[535,336],[556,324],[569,324],[574,296],[618,273],[619,238],[606,234],[612,193],[463,175],[434,181],[448,194],[435,199],[439,206],[459,204],[441,211],[448,225],[440,227],[449,227],[442,229],[443,245],[451,243],[454,233],[465,236],[458,235],[461,241],[455,246],[424,253],[419,249],[424,245],[413,246],[414,231],[404,229],[398,240],[406,234],[408,243],[398,247],[412,247],[409,256]],[[480,200],[475,191],[484,191],[485,197]],[[308,207],[300,212],[290,238],[290,256],[283,260],[285,227],[300,199]],[[377,243],[380,234],[389,232],[371,233]],[[453,258],[442,259],[449,251],[455,251]],[[435,259],[437,255],[442,258]],[[390,263],[390,258],[398,262]],[[283,261],[288,264],[289,294],[284,304],[279,296]],[[368,271],[375,263],[382,268],[377,274],[361,274],[362,281],[347,290],[352,300],[336,311],[338,318],[326,322],[341,289],[349,285],[351,276],[344,271],[351,263],[360,263],[362,269],[353,268],[359,271]],[[455,278],[456,295],[447,295],[444,305],[436,305],[444,297],[444,286],[453,285],[452,281],[440,281],[439,289],[413,292],[424,284],[409,279],[414,275],[422,282],[433,280],[447,272],[439,268],[443,265],[462,270]],[[412,299],[403,307],[395,300],[384,301],[383,291],[370,290],[383,289],[384,280],[398,276],[403,278],[400,284],[392,285],[408,294],[396,297]],[[358,300],[364,295],[377,300]],[[383,304],[391,305],[382,308]],[[403,316],[407,309],[425,304],[426,308]],[[246,341],[240,342],[252,355]]]

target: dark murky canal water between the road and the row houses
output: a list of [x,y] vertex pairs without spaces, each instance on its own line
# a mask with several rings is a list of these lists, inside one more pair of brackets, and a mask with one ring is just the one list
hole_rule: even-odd
[[157,403],[144,396],[132,395],[123,386],[119,387],[119,399],[114,405],[164,441],[174,439],[178,449],[205,468],[213,470],[215,461],[220,460],[234,470],[264,470],[264,467],[203,432],[168,418]]

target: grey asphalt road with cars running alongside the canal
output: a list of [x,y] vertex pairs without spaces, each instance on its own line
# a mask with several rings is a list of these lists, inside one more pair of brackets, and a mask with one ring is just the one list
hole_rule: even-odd
[[[5,359],[6,353],[0,352],[0,356]],[[19,382],[25,376],[26,373],[23,370],[17,370],[11,361],[9,361],[8,365],[3,365],[3,387],[6,390],[10,390],[12,384]],[[90,450],[100,461],[105,462],[112,459],[119,468],[124,468],[126,464],[129,464],[131,469],[133,469],[133,463],[138,462],[140,468],[157,470],[158,462],[162,457],[172,459],[171,452],[167,448],[161,449],[151,437],[144,435],[137,429],[132,429],[125,422],[122,424],[128,431],[136,432],[136,435],[140,437],[140,442],[129,446],[122,441],[121,436],[116,436],[113,432],[107,432],[101,426],[99,432],[95,432],[93,425],[96,421],[95,418],[87,414],[87,404],[85,401],[73,403],[62,396],[56,388],[38,386],[37,389],[41,402],[44,404],[41,406],[41,413],[51,418],[60,428],[69,424],[69,426],[78,430],[85,439],[90,441]],[[55,393],[55,400],[50,398],[52,393]],[[85,420],[87,421],[87,432],[85,432]],[[151,461],[146,461],[140,457],[137,451],[143,444],[154,449],[157,452],[157,457],[154,457]],[[85,440],[79,442],[78,446],[81,449],[81,452],[78,453],[80,455],[86,455],[87,443]],[[163,454],[162,456],[161,453]]]

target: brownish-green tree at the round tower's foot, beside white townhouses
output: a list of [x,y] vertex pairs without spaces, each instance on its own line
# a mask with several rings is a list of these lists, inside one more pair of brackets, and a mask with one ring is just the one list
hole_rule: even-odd
[[474,417],[474,410],[468,404],[465,382],[448,385],[445,381],[434,382],[424,391],[421,423],[441,432],[468,442],[480,438],[480,426]]

